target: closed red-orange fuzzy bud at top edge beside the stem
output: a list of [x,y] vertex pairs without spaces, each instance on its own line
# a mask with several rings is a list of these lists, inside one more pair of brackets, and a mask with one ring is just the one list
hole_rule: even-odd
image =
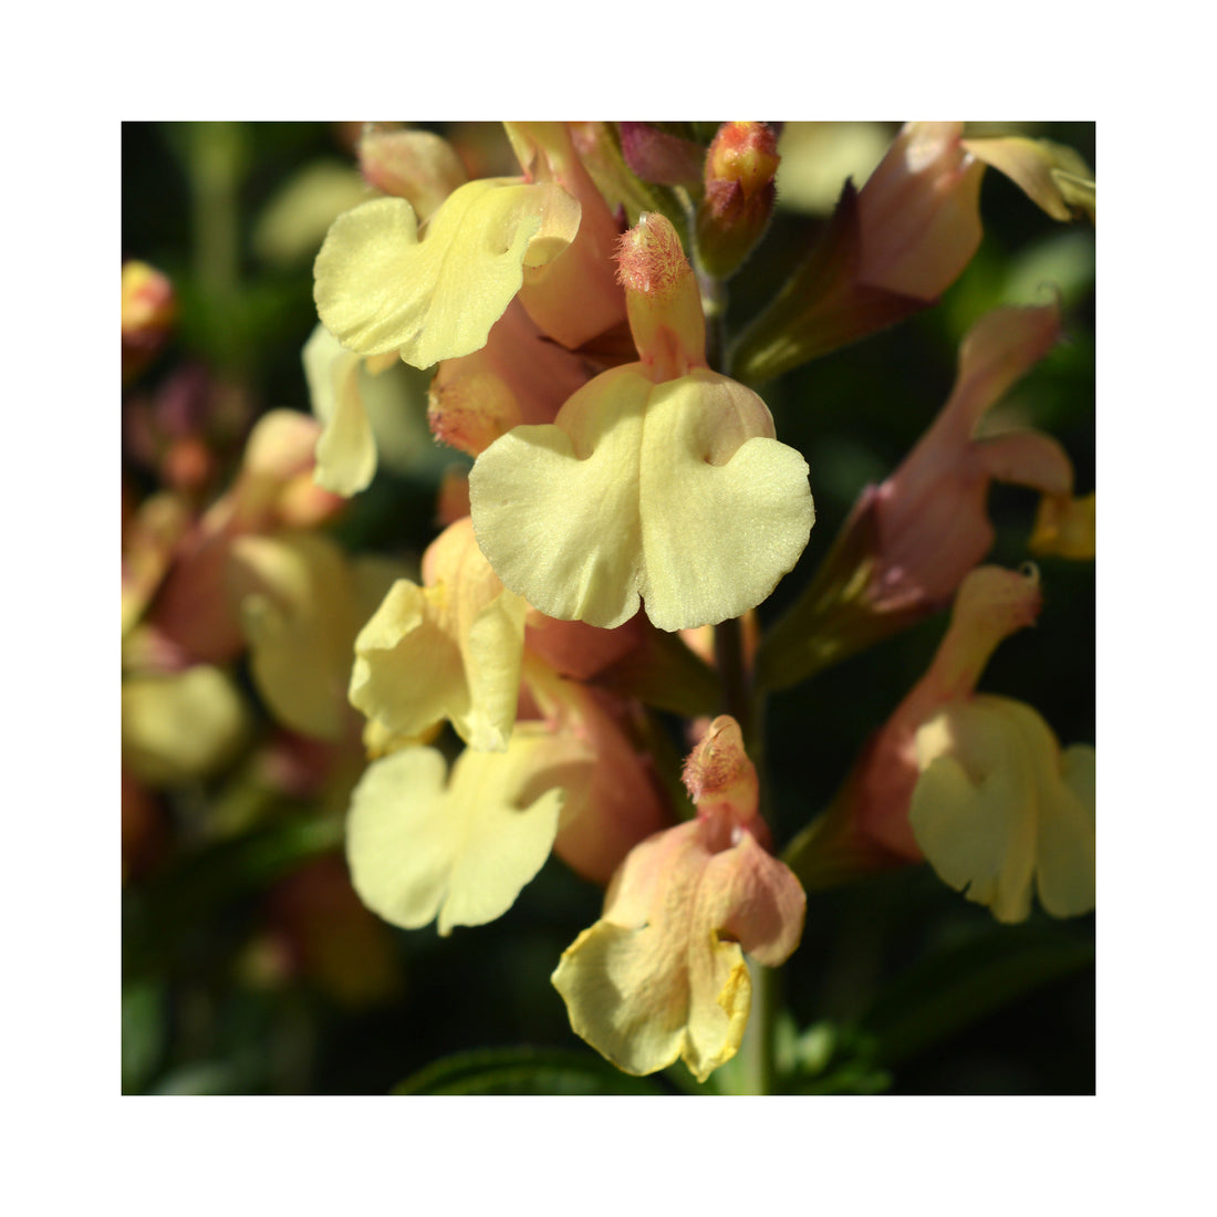
[[724,123],[706,155],[697,256],[725,279],[761,240],[776,197],[778,139],[764,123]]

